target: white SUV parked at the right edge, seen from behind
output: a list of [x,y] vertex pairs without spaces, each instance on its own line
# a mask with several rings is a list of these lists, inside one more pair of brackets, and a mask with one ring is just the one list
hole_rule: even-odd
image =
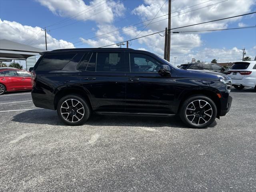
[[228,76],[236,89],[253,87],[256,90],[256,61],[234,62],[228,70]]

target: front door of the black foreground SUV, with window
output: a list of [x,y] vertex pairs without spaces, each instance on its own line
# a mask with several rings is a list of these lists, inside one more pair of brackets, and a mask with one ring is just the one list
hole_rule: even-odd
[[126,73],[126,112],[167,113],[174,109],[175,78],[161,76],[160,61],[147,54],[130,52]]

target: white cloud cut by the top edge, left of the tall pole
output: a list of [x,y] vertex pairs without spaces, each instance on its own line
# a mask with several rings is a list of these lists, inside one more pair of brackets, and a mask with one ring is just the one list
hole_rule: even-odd
[[38,0],[38,2],[58,16],[71,17],[75,20],[93,20],[98,23],[110,23],[114,20],[114,16],[122,16],[125,10],[124,4],[114,0],[92,0],[89,4],[83,0]]

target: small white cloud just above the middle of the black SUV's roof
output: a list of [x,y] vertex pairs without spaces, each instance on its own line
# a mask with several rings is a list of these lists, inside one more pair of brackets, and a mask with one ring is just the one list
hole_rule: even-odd
[[[101,29],[104,29],[104,31]],[[112,36],[113,34],[118,33],[118,32],[112,32],[115,30],[118,30],[118,28],[116,28],[113,25],[106,25],[106,24],[98,25],[98,30],[95,33],[95,36],[100,36],[100,37],[98,37],[96,40],[94,39],[85,40],[84,38],[80,38],[80,40],[89,47],[101,47],[101,46],[106,46],[110,44],[115,44],[116,42],[124,41],[124,38],[120,35]],[[109,33],[109,32],[112,32],[112,33]],[[109,33],[109,34],[103,35],[105,33]],[[117,47],[117,46],[113,45],[109,47]]]

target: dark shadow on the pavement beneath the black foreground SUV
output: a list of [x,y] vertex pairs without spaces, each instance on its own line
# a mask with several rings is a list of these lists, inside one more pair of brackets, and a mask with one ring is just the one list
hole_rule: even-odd
[[[58,118],[57,112],[53,110],[29,110],[13,116],[12,121],[32,124],[48,124],[53,126],[65,126]],[[178,117],[148,117],[148,116],[121,116],[121,115],[96,115],[92,114],[90,119],[82,126],[125,126],[125,127],[175,127],[190,128]],[[214,121],[209,127],[216,126]]]

